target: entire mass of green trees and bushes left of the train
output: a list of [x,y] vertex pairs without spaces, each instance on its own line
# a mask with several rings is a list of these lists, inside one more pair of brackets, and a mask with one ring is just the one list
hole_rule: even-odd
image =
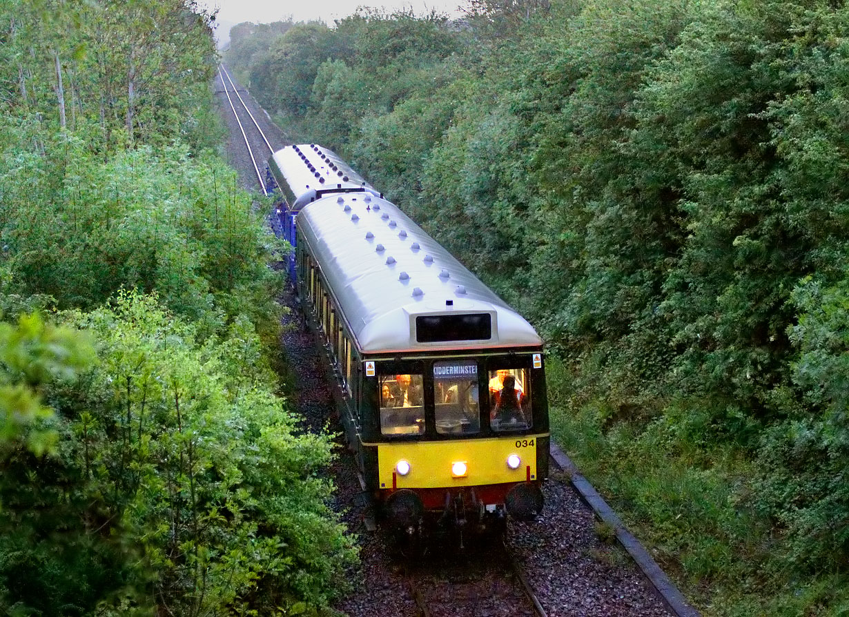
[[277,394],[287,247],[212,149],[210,23],[0,7],[3,614],[317,614],[356,558]]

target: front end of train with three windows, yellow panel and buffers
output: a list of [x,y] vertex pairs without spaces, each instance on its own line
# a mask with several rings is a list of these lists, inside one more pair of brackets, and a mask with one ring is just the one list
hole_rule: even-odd
[[[398,527],[532,519],[548,477],[541,350],[367,361],[361,421],[368,488]],[[499,406],[505,378],[517,405]],[[509,381],[509,379],[507,379]]]

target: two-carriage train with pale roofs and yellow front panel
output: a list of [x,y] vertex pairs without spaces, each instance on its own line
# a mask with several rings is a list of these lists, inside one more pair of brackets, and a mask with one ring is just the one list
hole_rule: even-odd
[[549,433],[531,325],[334,152],[294,145],[268,163],[290,275],[382,518],[413,533],[536,516]]

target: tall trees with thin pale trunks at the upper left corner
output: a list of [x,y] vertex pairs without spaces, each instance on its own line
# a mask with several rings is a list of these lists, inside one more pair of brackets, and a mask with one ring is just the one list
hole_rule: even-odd
[[181,111],[211,109],[211,16],[194,0],[10,0],[0,16],[4,109],[99,148],[204,139]]

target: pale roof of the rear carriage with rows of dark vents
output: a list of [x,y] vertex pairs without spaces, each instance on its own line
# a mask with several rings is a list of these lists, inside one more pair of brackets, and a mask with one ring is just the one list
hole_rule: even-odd
[[333,150],[314,143],[278,150],[268,160],[268,167],[292,210],[301,210],[330,192],[380,194]]

